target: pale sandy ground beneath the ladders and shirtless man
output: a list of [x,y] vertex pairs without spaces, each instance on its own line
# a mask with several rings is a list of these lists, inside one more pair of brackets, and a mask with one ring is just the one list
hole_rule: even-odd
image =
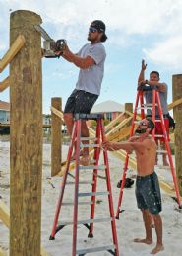
[[[63,148],[63,159],[66,157],[67,146]],[[102,159],[100,161],[102,163]],[[114,200],[114,210],[116,211],[119,189],[117,182],[121,179],[123,162],[109,154],[109,165],[111,170],[111,183]],[[170,172],[159,170],[162,176],[170,179]],[[132,170],[128,171],[128,177],[134,175]],[[0,141],[0,196],[3,201],[9,205],[9,142]],[[100,175],[103,175],[100,173]],[[72,248],[72,226],[64,227],[57,233],[54,241],[49,240],[51,233],[55,207],[60,188],[60,177],[51,179],[53,186],[47,182],[50,177],[50,144],[43,145],[43,177],[42,177],[42,246],[51,256],[71,255]],[[83,170],[80,175],[81,180],[91,180],[91,170]],[[69,178],[69,180],[72,180]],[[53,188],[55,187],[55,188]],[[120,219],[116,220],[117,235],[119,242],[120,255],[122,256],[147,256],[154,247],[152,245],[134,243],[136,237],[144,237],[144,225],[140,211],[137,209],[135,199],[135,186],[125,189],[123,196],[122,209],[125,211],[120,214]],[[80,191],[91,192],[88,185],[81,185]],[[106,191],[104,179],[98,179],[97,191]],[[73,200],[73,186],[66,186],[64,201]],[[86,199],[83,199],[86,200]],[[179,213],[177,204],[165,192],[162,191],[163,211],[161,217],[163,220],[163,242],[164,251],[157,255],[161,256],[180,256],[182,255],[182,213]],[[107,197],[97,197],[95,218],[105,218],[109,215]],[[62,207],[60,218],[72,220],[73,209],[70,206]],[[79,207],[79,219],[90,218],[90,207]],[[155,232],[153,229],[153,241],[155,241]],[[88,238],[88,229],[85,226],[78,227],[78,249],[94,246],[104,246],[112,244],[110,223],[98,223],[94,225],[94,237]],[[0,247],[7,251],[9,248],[9,230],[0,221]],[[108,252],[91,253],[88,255],[111,255]],[[25,255],[23,255],[25,256]]]

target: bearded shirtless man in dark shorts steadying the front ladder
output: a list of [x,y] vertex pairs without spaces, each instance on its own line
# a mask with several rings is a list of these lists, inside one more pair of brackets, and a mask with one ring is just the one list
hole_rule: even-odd
[[111,143],[106,141],[102,143],[102,147],[110,151],[119,149],[124,149],[129,153],[135,151],[137,159],[136,198],[138,208],[143,214],[146,238],[136,238],[134,242],[152,244],[152,214],[157,241],[151,254],[156,254],[164,250],[164,247],[162,243],[162,220],[159,215],[161,212],[160,189],[157,175],[154,172],[156,144],[149,135],[153,128],[152,120],[144,119],[136,130],[140,134],[139,136],[133,136],[126,142]]

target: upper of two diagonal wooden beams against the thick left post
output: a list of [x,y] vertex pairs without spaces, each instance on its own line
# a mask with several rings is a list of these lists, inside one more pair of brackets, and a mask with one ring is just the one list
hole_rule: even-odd
[[19,50],[24,46],[26,42],[23,35],[19,35],[14,43],[12,43],[10,49],[6,52],[4,57],[0,60],[0,73],[5,69],[5,67],[12,61]]

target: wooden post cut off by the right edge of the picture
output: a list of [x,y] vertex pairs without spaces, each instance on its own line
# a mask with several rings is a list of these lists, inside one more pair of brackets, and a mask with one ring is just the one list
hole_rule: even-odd
[[[182,98],[182,74],[172,76],[172,93],[173,101]],[[176,121],[176,128],[174,130],[176,176],[179,185],[179,192],[182,196],[182,104],[175,106],[173,111],[174,119]]]

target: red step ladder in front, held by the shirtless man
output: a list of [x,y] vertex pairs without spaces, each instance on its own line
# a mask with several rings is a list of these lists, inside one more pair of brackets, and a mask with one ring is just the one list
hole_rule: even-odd
[[[96,121],[96,137],[81,137],[81,123],[82,120],[95,120]],[[94,144],[85,144],[86,141],[93,140]],[[85,143],[82,144],[82,141],[85,141]],[[119,249],[118,249],[118,241],[117,241],[117,232],[116,232],[116,223],[115,223],[115,215],[114,215],[114,208],[113,208],[113,200],[112,200],[112,190],[111,190],[111,183],[110,183],[110,172],[109,172],[109,164],[108,164],[108,155],[107,151],[103,150],[103,159],[104,159],[104,165],[99,165],[99,156],[100,156],[100,143],[101,141],[105,141],[105,134],[104,134],[104,125],[103,125],[103,115],[102,114],[76,114],[75,115],[75,121],[74,121],[74,127],[72,131],[72,137],[71,137],[71,144],[69,146],[68,155],[67,155],[67,164],[65,169],[65,174],[62,179],[61,183],[61,189],[59,194],[59,199],[57,203],[57,208],[55,212],[54,222],[52,226],[52,232],[50,235],[50,240],[55,239],[55,234],[60,231],[63,227],[65,227],[68,224],[73,224],[73,244],[72,244],[72,256],[75,255],[85,255],[87,253],[91,252],[99,252],[99,251],[108,251],[112,255],[119,256]],[[70,167],[70,161],[72,152],[74,149],[74,146],[76,146],[76,160],[75,160],[75,176],[69,173],[69,167]],[[80,165],[80,151],[83,147],[92,147],[93,148],[93,161],[91,165],[89,166],[81,166]],[[92,180],[91,181],[79,181],[79,176],[82,172],[82,170],[90,170],[92,169]],[[102,177],[106,181],[106,191],[97,192],[97,178],[99,177],[99,170],[104,171],[105,176]],[[74,177],[74,182],[67,181],[68,175],[71,175],[72,178]],[[62,222],[58,223],[59,214],[61,211],[61,207],[66,205],[68,206],[68,203],[63,202],[63,196],[66,185],[75,185],[75,193],[74,193],[74,201],[73,204],[70,204],[73,206],[73,222]],[[91,185],[91,192],[80,192],[79,187],[81,184],[90,184]],[[89,187],[89,185],[88,185]],[[88,188],[87,187],[87,188]],[[101,217],[99,219],[95,219],[95,202],[96,202],[96,196],[107,196],[108,197],[108,205],[109,205],[109,216],[104,218]],[[82,197],[90,197],[91,201],[80,201],[80,198]],[[78,206],[79,205],[90,205],[91,206],[91,213],[90,218],[88,220],[78,220]],[[77,227],[79,224],[85,225],[89,229],[88,237],[93,237],[93,227],[94,223],[99,222],[110,222],[111,223],[111,231],[112,231],[112,240],[113,243],[109,245],[102,245],[100,247],[92,247],[87,249],[78,249],[77,248]],[[104,240],[104,238],[103,238]]]

